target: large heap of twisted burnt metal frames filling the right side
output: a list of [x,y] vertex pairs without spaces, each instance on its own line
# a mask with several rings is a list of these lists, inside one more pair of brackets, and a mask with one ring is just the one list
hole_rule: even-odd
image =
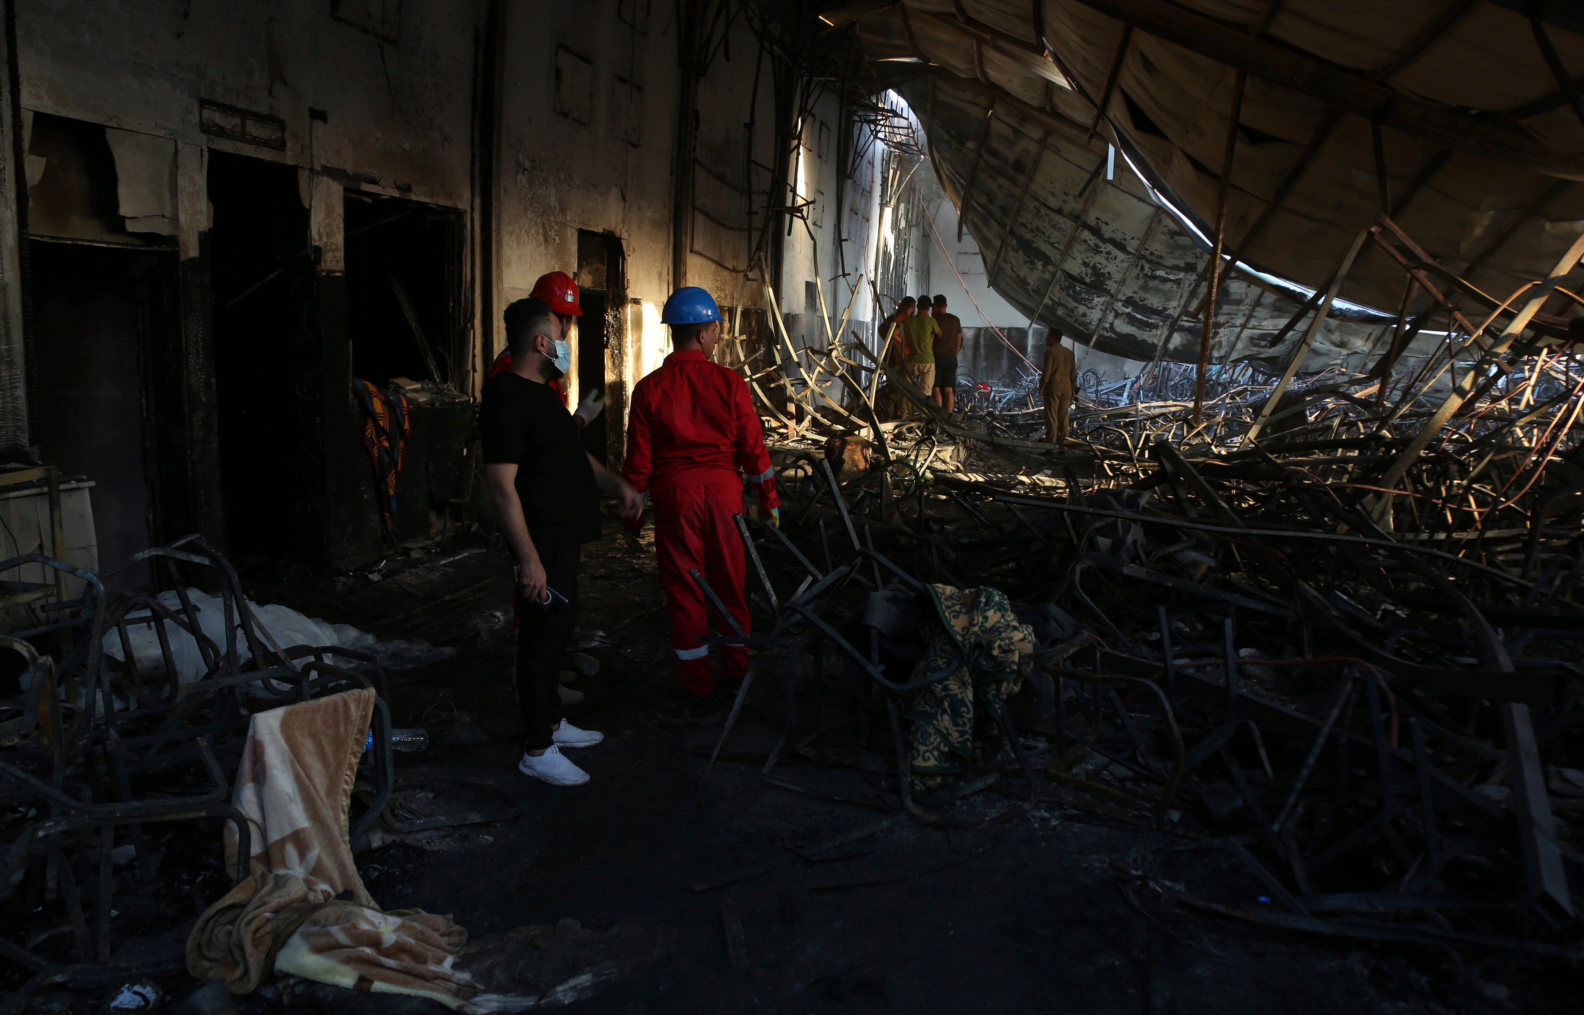
[[[914,420],[868,428],[809,407],[775,445],[781,527],[743,523],[773,624],[746,641],[787,648],[778,752],[895,757],[900,803],[936,823],[1019,774],[992,787],[1003,817],[1060,801],[1142,822],[1266,887],[1229,907],[1139,874],[1133,898],[1156,909],[1576,961],[1573,372],[1540,350],[1451,388],[1432,364],[1286,393],[1245,374],[1210,385],[1198,421],[1191,401],[1080,402],[1063,448],[1030,440],[1028,413],[947,416],[919,391]],[[958,703],[973,763],[942,776],[919,741],[957,663],[925,643],[961,591],[1004,595],[1034,644],[1004,703],[977,682]],[[974,681],[980,648],[960,641]],[[798,717],[795,660],[832,649],[855,754]]]

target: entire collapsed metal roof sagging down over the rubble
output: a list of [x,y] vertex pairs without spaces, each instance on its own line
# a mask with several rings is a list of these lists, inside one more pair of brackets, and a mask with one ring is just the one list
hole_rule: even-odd
[[[1223,283],[1212,361],[1224,361],[1285,359],[1302,328],[1272,339],[1305,288],[1327,287],[1383,211],[1435,261],[1426,277],[1476,321],[1578,236],[1584,103],[1559,81],[1576,86],[1570,74],[1584,71],[1584,16],[1541,5],[1530,21],[1519,6],[906,0],[825,17],[855,21],[879,68],[916,73],[900,90],[993,288],[1104,352],[1198,358],[1236,124],[1224,250],[1269,276]],[[1109,143],[1148,187],[1120,160],[1114,181],[1096,179]],[[1378,347],[1403,290],[1402,263],[1365,244],[1338,295],[1357,306],[1334,309],[1353,320],[1327,321],[1307,366]],[[1434,299],[1416,288],[1410,315]],[[1559,323],[1541,318],[1552,333]]]

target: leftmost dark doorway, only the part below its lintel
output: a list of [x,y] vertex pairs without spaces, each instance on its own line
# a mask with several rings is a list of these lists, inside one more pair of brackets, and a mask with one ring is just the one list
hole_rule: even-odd
[[[100,567],[150,545],[144,456],[144,369],[160,302],[147,276],[174,271],[174,253],[32,241],[36,442],[43,461],[93,481]],[[147,567],[111,580],[147,584]]]

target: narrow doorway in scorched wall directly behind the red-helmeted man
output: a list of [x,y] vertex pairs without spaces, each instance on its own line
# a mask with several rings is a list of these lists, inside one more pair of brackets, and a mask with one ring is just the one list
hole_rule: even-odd
[[621,447],[624,393],[611,383],[621,377],[621,310],[627,302],[626,263],[621,238],[578,230],[578,391],[605,390],[605,412],[583,428],[583,447],[600,462],[611,462]]

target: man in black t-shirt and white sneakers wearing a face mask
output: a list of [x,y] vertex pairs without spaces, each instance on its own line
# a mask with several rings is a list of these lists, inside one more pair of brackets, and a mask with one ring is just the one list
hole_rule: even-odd
[[572,358],[550,304],[527,298],[508,306],[505,334],[512,369],[485,382],[478,434],[489,497],[518,562],[516,697],[527,728],[518,770],[581,785],[588,773],[561,749],[588,747],[604,735],[561,717],[556,682],[577,614],[578,551],[600,537],[600,491],[619,497],[627,518],[643,511],[643,497],[589,458],[572,413],[546,383]]

